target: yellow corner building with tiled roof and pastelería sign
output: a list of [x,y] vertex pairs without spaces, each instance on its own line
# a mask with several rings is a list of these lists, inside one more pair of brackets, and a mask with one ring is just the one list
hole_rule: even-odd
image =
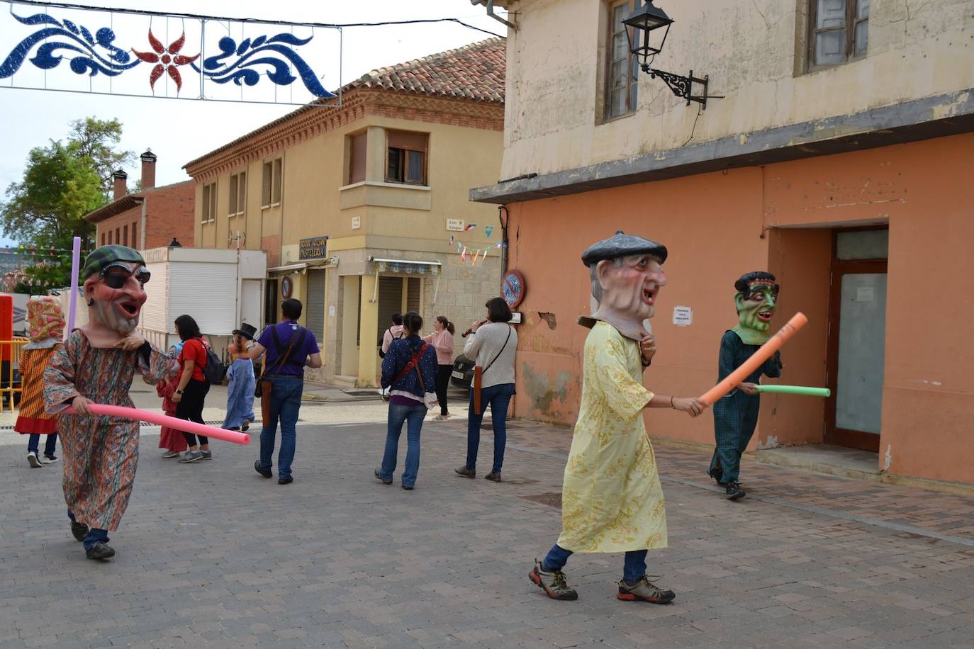
[[[498,295],[499,210],[467,192],[498,178],[504,87],[490,39],[374,70],[341,107],[309,104],[185,165],[197,245],[267,251],[265,324],[285,297],[304,305],[324,359],[306,378],[375,386],[393,312],[462,331]],[[488,254],[471,264],[458,243]]]

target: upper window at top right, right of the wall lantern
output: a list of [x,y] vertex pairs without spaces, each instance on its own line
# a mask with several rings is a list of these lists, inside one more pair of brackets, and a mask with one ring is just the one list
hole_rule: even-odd
[[810,0],[808,67],[836,65],[866,55],[869,0]]

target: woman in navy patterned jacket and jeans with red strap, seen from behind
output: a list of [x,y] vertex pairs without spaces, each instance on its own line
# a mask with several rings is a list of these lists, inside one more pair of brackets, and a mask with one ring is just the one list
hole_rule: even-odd
[[402,488],[416,486],[420,469],[420,431],[427,411],[436,403],[436,350],[419,337],[423,318],[415,311],[402,316],[404,336],[389,345],[382,359],[382,386],[389,387],[389,428],[382,466],[375,477],[384,485],[393,484],[402,423],[407,422],[406,466]]

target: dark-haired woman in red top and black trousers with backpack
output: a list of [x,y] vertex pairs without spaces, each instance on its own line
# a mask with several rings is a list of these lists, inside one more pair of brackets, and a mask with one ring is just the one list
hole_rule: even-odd
[[[197,423],[206,423],[203,420],[203,405],[206,393],[209,392],[209,381],[206,380],[204,372],[209,344],[203,340],[200,327],[192,316],[180,315],[176,318],[175,324],[176,333],[183,343],[178,356],[179,379],[171,397],[176,405],[176,416]],[[183,433],[183,437],[186,438],[189,449],[179,458],[181,464],[212,459],[213,453],[209,451],[208,438],[200,435],[200,442],[197,444],[196,435],[193,433]]]

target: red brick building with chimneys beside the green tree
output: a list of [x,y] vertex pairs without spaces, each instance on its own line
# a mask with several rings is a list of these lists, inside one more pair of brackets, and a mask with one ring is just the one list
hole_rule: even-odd
[[113,174],[112,202],[85,215],[96,226],[95,244],[121,243],[145,250],[169,245],[176,238],[184,246],[193,245],[193,181],[156,187],[156,156],[146,151],[140,159],[141,191],[129,194],[129,176],[119,169]]

